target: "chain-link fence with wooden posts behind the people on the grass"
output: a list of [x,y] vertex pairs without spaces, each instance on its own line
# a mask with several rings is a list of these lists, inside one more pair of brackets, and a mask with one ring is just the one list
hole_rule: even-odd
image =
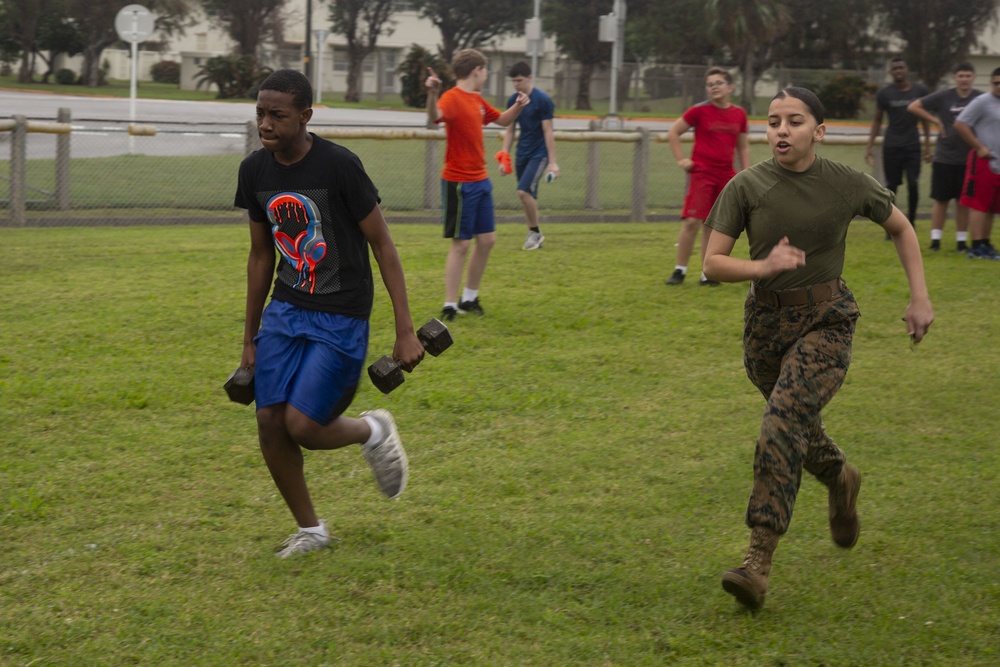
[[[609,132],[596,126],[592,123],[590,131],[557,130],[562,175],[540,186],[542,220],[677,219],[686,177],[674,163],[666,133],[642,128]],[[379,188],[390,221],[439,220],[443,131],[310,129],[358,154]],[[753,162],[769,156],[761,128],[756,129],[751,133]],[[496,130],[486,131],[488,159],[500,150],[500,136]],[[689,132],[685,140],[690,139]],[[836,154],[830,157],[868,169],[863,162],[865,140],[831,137],[829,151]],[[130,125],[71,119],[68,110],[56,122],[0,119],[0,151],[11,155],[0,164],[0,225],[238,221],[242,213],[232,206],[237,170],[259,145],[253,121]],[[501,177],[496,166],[490,160],[498,220],[521,220],[516,180]],[[930,169],[924,172],[927,180]],[[928,192],[924,185],[922,193]]]

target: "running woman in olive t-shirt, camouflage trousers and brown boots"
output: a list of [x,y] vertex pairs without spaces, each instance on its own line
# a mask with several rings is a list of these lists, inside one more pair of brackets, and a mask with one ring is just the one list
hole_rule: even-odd
[[[788,529],[803,468],[829,489],[834,542],[851,548],[858,539],[861,475],[821,417],[851,361],[858,307],[840,276],[855,216],[880,224],[896,246],[910,287],[904,319],[912,340],[919,342],[934,320],[912,226],[875,179],[816,154],[823,114],[811,91],[780,91],[768,109],[773,158],[737,174],[705,221],[719,232],[709,241],[706,275],[752,281],[744,362],[767,399],[746,511],[750,548],[722,577],[723,588],[751,609],[764,602],[771,555]],[[751,259],[731,257],[744,231]]]

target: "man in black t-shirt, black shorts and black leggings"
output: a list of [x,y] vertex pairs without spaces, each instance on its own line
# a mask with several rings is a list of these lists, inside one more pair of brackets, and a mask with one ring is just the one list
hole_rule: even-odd
[[[875,138],[882,131],[882,115],[889,117],[889,125],[885,130],[882,142],[882,166],[885,169],[885,187],[896,194],[906,173],[906,194],[909,203],[908,217],[910,224],[917,217],[917,202],[920,200],[918,181],[920,180],[920,134],[917,132],[917,118],[907,112],[910,102],[927,95],[926,86],[910,81],[910,70],[902,58],[893,58],[889,63],[889,74],[892,83],[878,91],[875,96],[875,118],[872,119],[872,129],[868,136],[868,147],[865,150],[865,161],[872,163],[872,149]],[[931,159],[930,134],[927,121],[924,127],[924,158]],[[887,237],[888,238],[888,237]]]

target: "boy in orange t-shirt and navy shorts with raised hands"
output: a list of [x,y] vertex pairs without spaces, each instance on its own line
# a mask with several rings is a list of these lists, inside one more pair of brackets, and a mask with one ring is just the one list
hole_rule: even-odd
[[[479,305],[479,284],[496,242],[493,185],[486,171],[483,126],[496,123],[507,127],[517,119],[529,100],[527,95],[519,93],[514,104],[503,113],[490,106],[479,94],[488,76],[486,64],[486,56],[476,49],[462,49],[456,53],[451,69],[458,83],[440,98],[441,79],[434,70],[427,68],[427,118],[431,123],[444,123],[447,138],[441,172],[441,208],[444,236],[451,239],[451,249],[445,263],[441,319],[449,322],[460,313],[483,314]],[[459,301],[462,269],[473,238],[476,246]]]

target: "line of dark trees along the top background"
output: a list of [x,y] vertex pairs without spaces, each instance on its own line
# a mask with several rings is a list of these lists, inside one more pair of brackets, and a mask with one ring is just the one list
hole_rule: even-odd
[[[287,0],[142,4],[156,16],[156,34],[164,39],[183,35],[196,18],[207,16],[236,44],[220,64],[251,79],[263,73],[265,48],[298,48],[286,42],[285,30],[304,20]],[[541,0],[545,33],[560,53],[579,64],[578,109],[591,108],[591,78],[610,64],[611,45],[597,40],[597,26],[613,5],[613,0]],[[752,110],[754,84],[774,66],[859,70],[881,64],[891,49],[933,90],[979,45],[984,30],[997,20],[998,5],[1000,0],[628,0],[625,66],[670,62],[737,68],[741,102]],[[363,62],[381,37],[392,34],[403,9],[417,11],[438,29],[433,51],[442,63],[459,49],[523,35],[524,20],[534,12],[533,0],[312,0],[312,7],[313,27],[325,27],[346,42],[348,101],[360,99]],[[29,81],[41,60],[48,67],[47,81],[59,54],[82,54],[79,82],[100,85],[101,53],[120,42],[114,28],[120,9],[118,3],[95,0],[4,0],[0,61],[19,63],[18,79]],[[157,43],[144,48],[155,50]],[[234,60],[242,65],[234,67]],[[619,82],[627,85],[628,79],[622,76]],[[250,87],[245,83],[232,86],[233,94]]]

